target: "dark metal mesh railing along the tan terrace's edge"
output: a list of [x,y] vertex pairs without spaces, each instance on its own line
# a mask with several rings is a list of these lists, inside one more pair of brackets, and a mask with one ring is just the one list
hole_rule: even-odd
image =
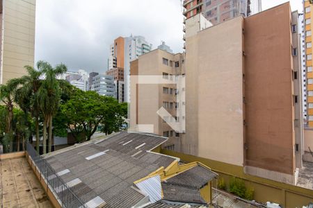
[[42,177],[48,189],[57,196],[59,202],[61,202],[62,207],[86,207],[84,203],[79,199],[78,196],[67,186],[67,184],[63,181],[63,179],[58,176],[54,168],[46,161],[45,158],[38,155],[33,146],[29,143],[26,144],[26,150],[31,159],[33,160],[33,164],[38,168],[40,172],[40,177]]

